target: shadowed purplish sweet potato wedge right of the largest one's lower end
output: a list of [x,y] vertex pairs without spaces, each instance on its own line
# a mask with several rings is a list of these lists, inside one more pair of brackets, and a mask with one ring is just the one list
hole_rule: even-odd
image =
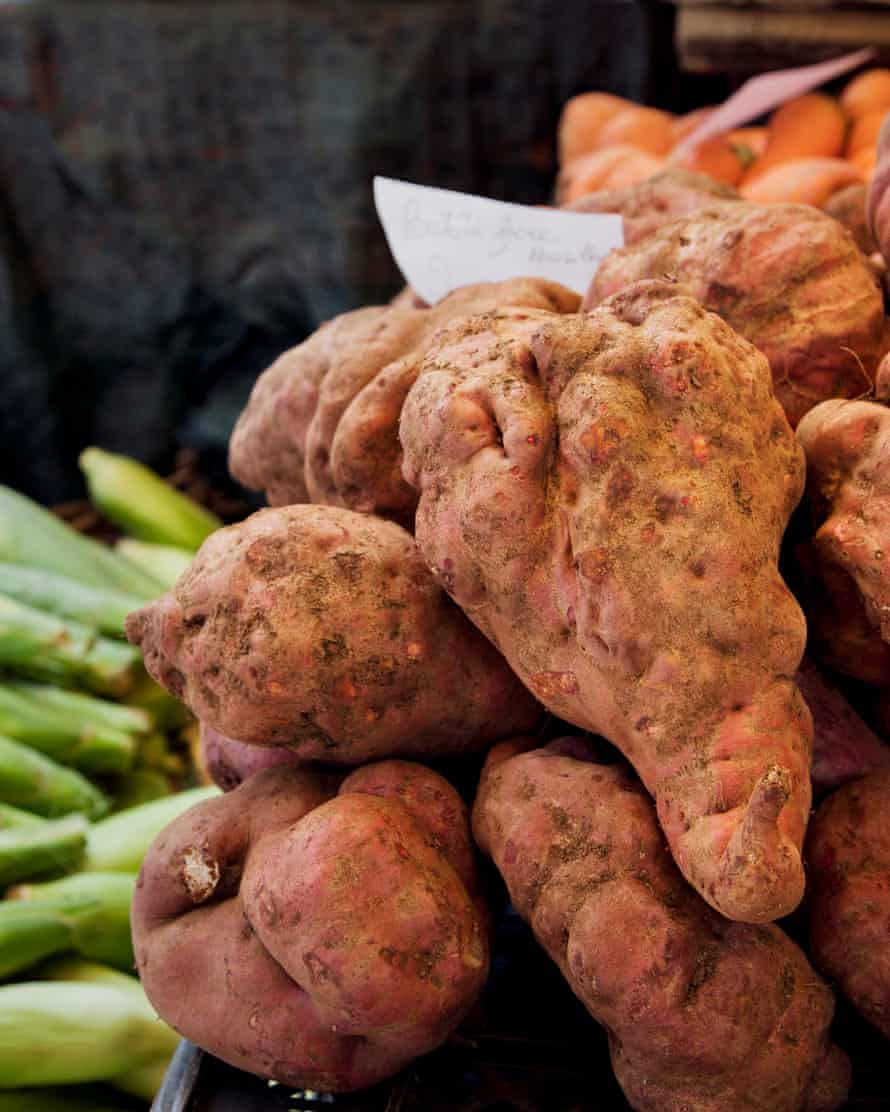
[[813,791],[823,795],[879,768],[890,768],[890,745],[871,731],[809,658],[797,684],[813,716]]

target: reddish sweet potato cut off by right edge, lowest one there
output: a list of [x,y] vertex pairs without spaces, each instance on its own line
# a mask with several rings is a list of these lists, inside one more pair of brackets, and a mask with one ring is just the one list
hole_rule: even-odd
[[819,805],[807,864],[813,962],[890,1039],[890,772]]

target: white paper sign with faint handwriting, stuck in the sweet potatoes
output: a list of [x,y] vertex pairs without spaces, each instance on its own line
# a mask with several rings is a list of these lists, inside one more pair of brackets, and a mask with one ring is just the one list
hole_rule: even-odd
[[550,278],[584,294],[624,244],[619,215],[507,205],[473,193],[374,179],[374,200],[405,281],[425,301],[458,286]]

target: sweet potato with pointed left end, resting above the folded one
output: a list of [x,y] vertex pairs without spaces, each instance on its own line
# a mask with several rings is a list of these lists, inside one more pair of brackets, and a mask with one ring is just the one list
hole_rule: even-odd
[[411,535],[334,506],[215,533],[127,634],[201,722],[307,759],[469,752],[541,714]]

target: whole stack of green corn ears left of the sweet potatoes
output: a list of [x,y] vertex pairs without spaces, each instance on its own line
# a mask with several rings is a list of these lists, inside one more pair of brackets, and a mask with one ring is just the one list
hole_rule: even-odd
[[123,622],[220,523],[135,460],[81,467],[115,548],[0,486],[0,1112],[150,1101],[177,1036],[132,975],[130,898],[156,834],[216,793],[177,791],[182,712]]

